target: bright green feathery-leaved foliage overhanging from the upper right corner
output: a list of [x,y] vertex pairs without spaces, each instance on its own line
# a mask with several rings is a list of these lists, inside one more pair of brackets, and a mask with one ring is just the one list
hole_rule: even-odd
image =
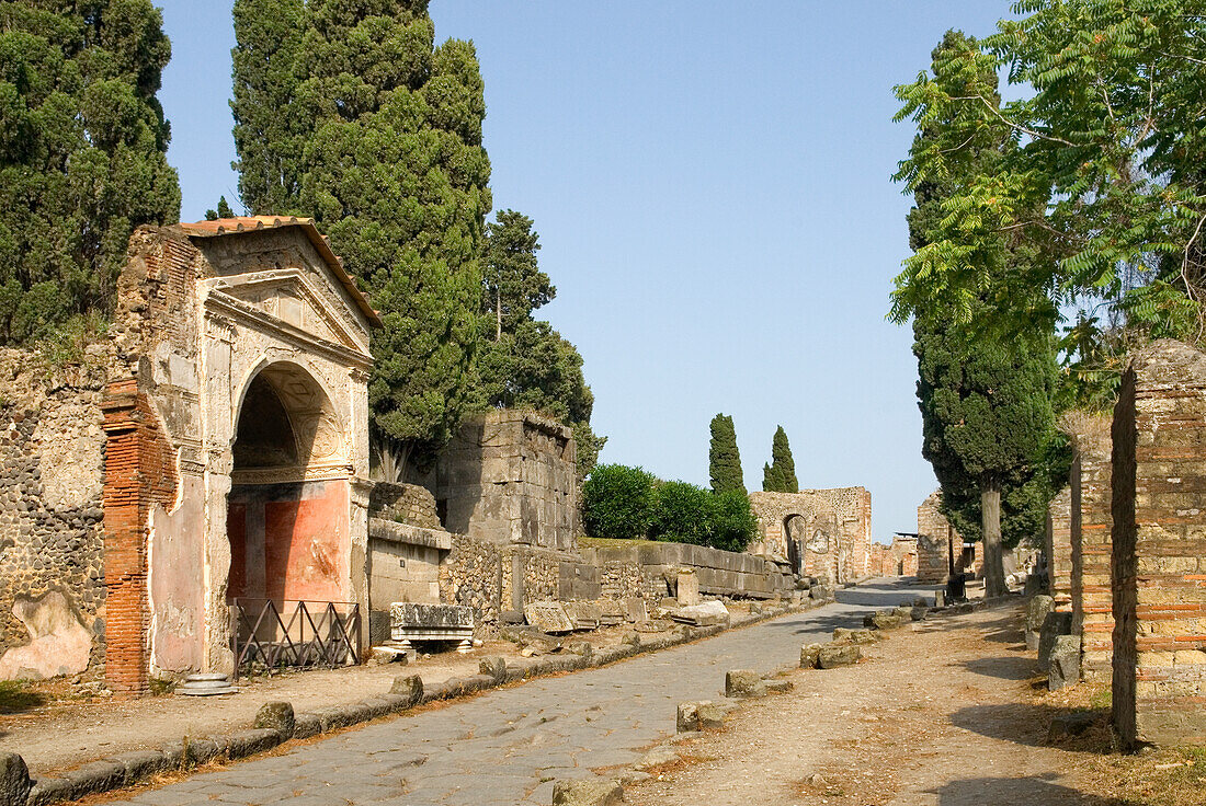
[[[1076,305],[1064,396],[1106,406],[1128,347],[1202,336],[1206,4],[1024,0],[1014,11],[896,88],[897,119],[926,135],[896,178],[914,193],[956,182],[896,280],[892,316],[944,311],[1017,334]],[[1018,95],[1003,104],[988,80],[999,69]],[[977,158],[985,142],[1001,145],[999,159]],[[994,263],[1002,241],[1034,258]]]

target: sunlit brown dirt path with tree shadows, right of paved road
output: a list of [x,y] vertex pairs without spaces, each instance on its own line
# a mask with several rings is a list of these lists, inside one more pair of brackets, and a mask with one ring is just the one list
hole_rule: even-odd
[[[696,759],[631,787],[638,806],[1106,806],[1094,753],[1046,745],[1058,708],[1035,684],[1020,606],[912,625],[870,660],[798,671],[795,690],[740,708]],[[1100,783],[1100,782],[1099,782]]]

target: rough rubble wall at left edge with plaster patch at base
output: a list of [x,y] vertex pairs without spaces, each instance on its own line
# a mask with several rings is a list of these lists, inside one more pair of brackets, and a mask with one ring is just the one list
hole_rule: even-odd
[[0,679],[103,670],[106,355],[0,349]]

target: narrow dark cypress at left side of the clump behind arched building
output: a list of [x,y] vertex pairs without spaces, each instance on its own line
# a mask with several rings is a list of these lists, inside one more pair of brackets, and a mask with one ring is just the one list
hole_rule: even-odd
[[235,0],[234,145],[239,196],[253,216],[302,208],[303,155],[312,122],[302,114],[305,0]]

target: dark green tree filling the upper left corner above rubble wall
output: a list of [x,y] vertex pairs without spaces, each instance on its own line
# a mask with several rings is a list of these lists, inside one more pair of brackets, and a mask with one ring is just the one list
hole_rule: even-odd
[[130,234],[180,219],[150,0],[0,2],[0,341],[109,314]]

